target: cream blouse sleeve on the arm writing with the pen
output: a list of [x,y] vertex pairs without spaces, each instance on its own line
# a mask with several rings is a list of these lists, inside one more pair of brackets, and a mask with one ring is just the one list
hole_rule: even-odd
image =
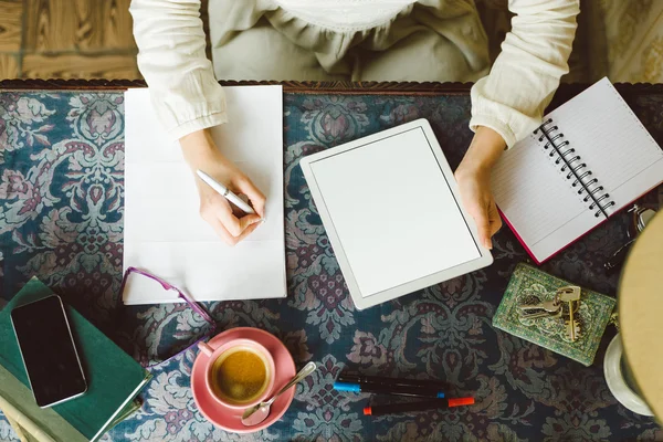
[[200,0],[133,0],[138,67],[168,134],[227,122],[225,96],[204,53]]

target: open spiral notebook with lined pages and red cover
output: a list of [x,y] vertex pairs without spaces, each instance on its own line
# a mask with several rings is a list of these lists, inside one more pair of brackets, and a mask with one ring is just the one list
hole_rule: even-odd
[[492,176],[505,222],[537,263],[661,182],[661,147],[608,78],[546,115]]

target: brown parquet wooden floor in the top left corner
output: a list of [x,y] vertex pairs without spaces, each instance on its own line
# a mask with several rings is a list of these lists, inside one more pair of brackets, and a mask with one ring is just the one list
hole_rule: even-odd
[[129,4],[0,0],[0,80],[141,78]]

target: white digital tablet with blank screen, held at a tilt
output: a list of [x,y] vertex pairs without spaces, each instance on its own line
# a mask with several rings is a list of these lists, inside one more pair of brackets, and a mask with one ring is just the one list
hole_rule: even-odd
[[299,165],[358,309],[493,262],[428,120]]

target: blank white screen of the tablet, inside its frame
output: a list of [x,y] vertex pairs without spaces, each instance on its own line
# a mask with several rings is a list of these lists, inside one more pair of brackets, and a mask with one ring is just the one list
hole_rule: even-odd
[[481,257],[431,149],[415,127],[311,162],[364,297]]

